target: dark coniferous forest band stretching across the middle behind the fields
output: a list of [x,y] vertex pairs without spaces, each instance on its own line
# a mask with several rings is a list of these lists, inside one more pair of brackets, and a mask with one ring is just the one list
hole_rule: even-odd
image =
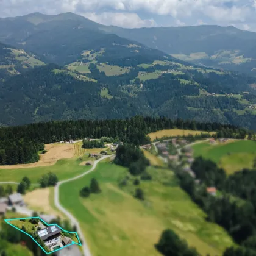
[[163,129],[188,129],[217,131],[230,138],[241,138],[245,129],[230,124],[200,123],[196,121],[172,120],[135,116],[116,120],[51,121],[26,126],[2,127],[0,129],[0,165],[31,163],[38,161],[38,151],[44,143],[54,143],[69,138],[112,137],[135,145],[149,143],[146,134]]

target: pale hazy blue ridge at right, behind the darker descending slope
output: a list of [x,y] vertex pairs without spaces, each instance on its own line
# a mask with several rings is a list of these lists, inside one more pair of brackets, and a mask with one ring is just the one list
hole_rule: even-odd
[[235,27],[193,26],[123,29],[108,32],[132,38],[198,65],[238,70],[256,76],[256,33]]

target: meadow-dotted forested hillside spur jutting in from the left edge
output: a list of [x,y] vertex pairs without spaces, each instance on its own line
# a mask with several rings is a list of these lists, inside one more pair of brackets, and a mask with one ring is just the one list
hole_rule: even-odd
[[0,80],[7,79],[29,68],[44,65],[33,54],[0,43]]

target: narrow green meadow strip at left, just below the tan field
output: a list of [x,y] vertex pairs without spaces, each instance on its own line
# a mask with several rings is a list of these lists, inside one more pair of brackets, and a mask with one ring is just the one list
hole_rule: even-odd
[[43,174],[54,172],[59,180],[65,180],[82,174],[90,166],[80,166],[79,161],[71,159],[63,159],[57,161],[55,165],[40,166],[34,168],[20,168],[20,169],[0,169],[1,182],[21,182],[24,176],[29,177],[32,183],[37,183]]

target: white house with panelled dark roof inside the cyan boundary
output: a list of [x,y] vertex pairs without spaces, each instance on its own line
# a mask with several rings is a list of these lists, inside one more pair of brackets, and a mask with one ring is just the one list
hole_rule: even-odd
[[58,243],[62,239],[60,236],[60,228],[55,225],[38,230],[36,233],[46,246]]

